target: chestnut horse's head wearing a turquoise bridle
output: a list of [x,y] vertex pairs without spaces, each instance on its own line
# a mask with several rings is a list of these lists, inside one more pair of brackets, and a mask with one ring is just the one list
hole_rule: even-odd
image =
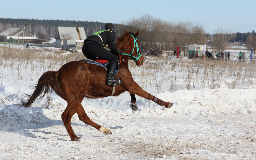
[[137,66],[142,66],[145,59],[140,50],[140,42],[137,40],[139,32],[134,35],[125,31],[123,36],[118,38],[118,46],[124,52],[123,55],[129,55],[129,58],[135,61]]

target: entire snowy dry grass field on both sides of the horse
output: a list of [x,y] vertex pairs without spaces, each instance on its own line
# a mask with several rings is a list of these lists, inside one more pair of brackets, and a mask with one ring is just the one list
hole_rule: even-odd
[[[37,81],[40,75],[48,70],[58,70],[63,64],[83,59],[80,53],[51,48],[17,49],[0,46],[0,83],[14,77],[18,80]],[[145,90],[155,93],[175,90],[191,90],[200,88],[219,88],[222,83],[227,88],[241,88],[255,85],[256,64],[251,62],[225,62],[211,59],[176,59],[145,57],[143,66],[136,66],[129,61],[134,80]],[[6,72],[6,70],[10,72]],[[26,75],[26,72],[33,72]]]

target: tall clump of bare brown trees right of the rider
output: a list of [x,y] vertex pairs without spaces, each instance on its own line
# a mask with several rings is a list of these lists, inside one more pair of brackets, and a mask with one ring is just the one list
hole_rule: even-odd
[[132,19],[128,26],[139,29],[140,41],[145,44],[145,49],[151,48],[160,50],[176,50],[180,46],[186,50],[189,44],[205,44],[207,42],[203,26],[192,22],[173,22],[163,21],[149,15],[144,15],[137,19]]

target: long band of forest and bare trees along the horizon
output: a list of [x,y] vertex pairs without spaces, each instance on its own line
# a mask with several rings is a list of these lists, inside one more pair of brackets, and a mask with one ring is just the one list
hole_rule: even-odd
[[[140,30],[140,42],[142,48],[150,50],[175,50],[177,46],[186,50],[189,44],[209,44],[215,46],[218,52],[224,51],[229,42],[239,42],[246,44],[248,48],[256,46],[256,33],[223,33],[205,34],[202,24],[186,22],[167,22],[159,18],[144,15],[127,22],[127,25],[113,24],[116,36],[120,36],[125,31],[136,33]],[[0,18],[0,32],[10,27],[25,28],[31,33],[35,33],[38,38],[46,39],[55,37],[57,27],[84,27],[86,36],[94,34],[96,31],[104,30],[105,23],[88,21],[69,20],[37,20],[37,19],[12,19]],[[224,45],[223,45],[224,44]]]

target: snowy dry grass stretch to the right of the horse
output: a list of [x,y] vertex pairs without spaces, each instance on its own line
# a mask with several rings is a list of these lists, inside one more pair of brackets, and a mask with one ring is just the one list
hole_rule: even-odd
[[[136,66],[130,63],[130,67]],[[205,87],[214,89],[222,83],[230,89],[249,87],[255,85],[256,77],[256,64],[251,62],[153,57],[141,67],[132,72],[134,77],[138,77],[135,81],[157,87],[158,93]]]

